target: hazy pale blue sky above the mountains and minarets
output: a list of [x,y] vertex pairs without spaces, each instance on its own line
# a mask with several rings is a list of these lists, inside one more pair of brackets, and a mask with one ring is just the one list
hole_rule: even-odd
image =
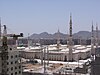
[[2,25],[11,33],[68,33],[72,13],[73,33],[100,25],[100,0],[0,0]]

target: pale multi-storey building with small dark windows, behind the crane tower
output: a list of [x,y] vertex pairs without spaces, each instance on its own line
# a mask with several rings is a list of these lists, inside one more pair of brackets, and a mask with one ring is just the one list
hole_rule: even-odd
[[[2,48],[1,48],[2,49]],[[2,59],[0,49],[0,75],[2,75]],[[6,60],[6,74],[7,75],[22,75],[21,58],[16,46],[8,46],[8,55]]]

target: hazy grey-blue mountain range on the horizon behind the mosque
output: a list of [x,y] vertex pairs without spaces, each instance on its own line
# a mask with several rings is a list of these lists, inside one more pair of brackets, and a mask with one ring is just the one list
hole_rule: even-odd
[[[96,34],[96,31],[94,31],[94,34]],[[98,35],[100,37],[100,31],[98,31]],[[68,34],[63,34],[59,32],[58,33],[54,33],[54,34],[49,34],[47,32],[42,32],[40,34],[32,34],[30,36],[30,39],[57,39],[59,36],[60,39],[66,39],[68,38]],[[79,31],[77,33],[73,34],[73,38],[77,39],[77,38],[81,38],[81,39],[89,39],[91,38],[91,32],[89,31]]]

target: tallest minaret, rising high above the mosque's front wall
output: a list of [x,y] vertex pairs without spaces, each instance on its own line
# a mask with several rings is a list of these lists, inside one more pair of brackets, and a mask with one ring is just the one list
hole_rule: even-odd
[[70,28],[69,28],[69,61],[73,61],[73,56],[72,56],[72,16],[70,14]]

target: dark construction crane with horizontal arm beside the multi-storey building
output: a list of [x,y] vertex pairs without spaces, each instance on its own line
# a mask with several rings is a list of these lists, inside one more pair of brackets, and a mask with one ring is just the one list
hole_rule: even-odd
[[7,28],[6,28],[6,25],[4,25],[2,46],[1,46],[1,63],[2,63],[1,75],[8,75],[7,74],[7,60],[8,60],[7,37],[13,37],[14,40],[17,40],[18,37],[23,37],[23,33],[20,33],[20,35],[7,34]]

